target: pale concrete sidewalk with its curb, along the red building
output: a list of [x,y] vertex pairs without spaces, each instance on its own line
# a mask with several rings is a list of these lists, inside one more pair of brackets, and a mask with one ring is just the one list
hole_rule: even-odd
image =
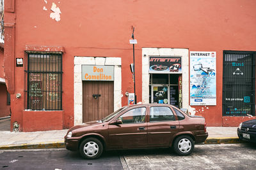
[[[6,120],[7,121],[7,120]],[[0,131],[0,149],[64,148],[64,136],[68,129],[44,132]],[[205,144],[242,143],[237,127],[207,127]]]

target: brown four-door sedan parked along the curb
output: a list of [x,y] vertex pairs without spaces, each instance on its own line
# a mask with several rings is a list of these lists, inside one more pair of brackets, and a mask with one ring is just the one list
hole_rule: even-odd
[[68,130],[65,145],[85,159],[97,159],[103,150],[173,147],[189,155],[207,138],[204,117],[192,117],[169,104],[124,106],[102,120]]

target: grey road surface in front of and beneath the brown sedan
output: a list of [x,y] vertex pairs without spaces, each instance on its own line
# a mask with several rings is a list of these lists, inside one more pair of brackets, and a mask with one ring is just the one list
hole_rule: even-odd
[[0,169],[256,169],[256,144],[196,145],[180,157],[166,149],[105,152],[84,160],[65,149],[0,150]]

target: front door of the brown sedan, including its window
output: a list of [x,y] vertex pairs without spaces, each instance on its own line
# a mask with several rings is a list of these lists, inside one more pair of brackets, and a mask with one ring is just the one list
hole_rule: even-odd
[[109,125],[109,148],[147,147],[146,107],[132,108],[118,119],[122,124]]

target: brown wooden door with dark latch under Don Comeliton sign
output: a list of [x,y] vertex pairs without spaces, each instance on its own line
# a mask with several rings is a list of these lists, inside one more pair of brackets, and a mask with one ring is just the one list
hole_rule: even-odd
[[83,81],[83,122],[100,120],[113,111],[114,81]]

